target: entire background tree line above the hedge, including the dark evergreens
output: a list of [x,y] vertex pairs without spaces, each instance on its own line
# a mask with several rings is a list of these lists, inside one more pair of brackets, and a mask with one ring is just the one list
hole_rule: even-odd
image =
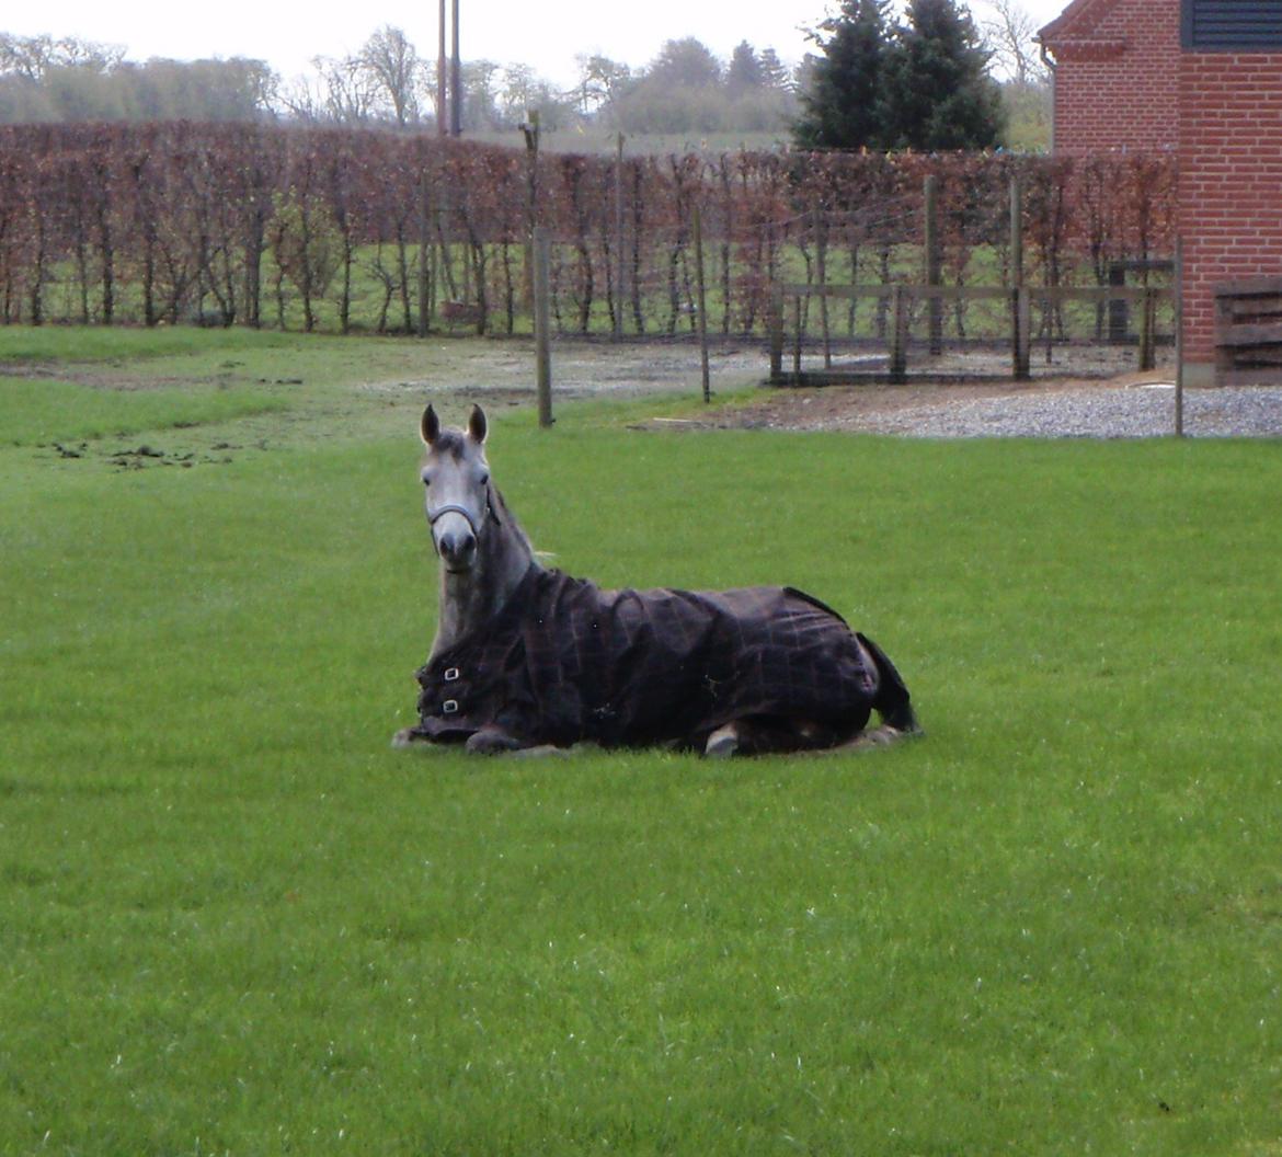
[[[1018,0],[994,3],[1005,19],[976,27],[955,0],[913,0],[899,28],[886,0],[844,0],[837,15],[812,33],[817,51],[796,65],[747,41],[723,62],[694,37],[667,41],[641,68],[582,55],[568,88],[524,64],[463,62],[463,129],[515,129],[537,111],[541,127],[553,132],[592,126],[629,136],[792,133],[800,147],[987,147],[1000,128],[972,132],[963,144],[940,132],[923,135],[906,97],[942,94],[962,78],[963,91],[979,94],[986,113],[997,94],[997,122],[1004,100],[1035,92],[1045,103],[1040,64],[1029,64],[1036,60],[1031,22]],[[1001,86],[991,79],[990,60],[1003,65]],[[392,26],[377,29],[356,53],[318,56],[309,72],[291,78],[263,60],[137,63],[119,46],[0,33],[0,123],[274,120],[431,131],[436,70],[435,58],[422,56]],[[969,115],[977,103],[950,100],[945,119]],[[873,119],[885,120],[885,128],[869,128]]]

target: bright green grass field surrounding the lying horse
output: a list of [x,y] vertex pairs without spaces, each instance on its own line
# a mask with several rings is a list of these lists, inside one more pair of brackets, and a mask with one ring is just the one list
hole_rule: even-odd
[[495,410],[558,565],[804,587],[928,734],[474,762],[354,388],[453,355],[151,337],[0,334],[0,1153],[1282,1153],[1276,443]]

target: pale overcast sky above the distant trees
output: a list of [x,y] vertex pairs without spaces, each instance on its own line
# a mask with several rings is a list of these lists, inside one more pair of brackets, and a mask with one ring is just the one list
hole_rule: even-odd
[[[1038,26],[1054,19],[1068,0],[1022,0]],[[694,36],[723,60],[740,41],[773,47],[788,64],[808,49],[806,27],[828,12],[826,0],[460,0],[459,35],[464,60],[523,63],[540,76],[569,86],[574,58],[601,53],[633,67],[647,64],[667,40]],[[47,32],[123,45],[129,59],[171,56],[251,56],[267,60],[286,78],[308,69],[313,56],[356,51],[383,24],[404,28],[423,56],[436,55],[433,0],[379,0],[322,5],[299,0],[59,0],[56,4],[5,4],[0,31],[15,36]],[[829,4],[836,8],[836,4]],[[982,0],[972,5],[983,14]]]

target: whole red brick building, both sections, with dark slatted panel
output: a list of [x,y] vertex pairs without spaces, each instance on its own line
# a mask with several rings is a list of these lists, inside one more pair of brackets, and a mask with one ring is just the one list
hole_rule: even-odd
[[1214,287],[1282,277],[1282,3],[1073,0],[1038,40],[1056,152],[1177,152],[1185,377],[1213,381]]

